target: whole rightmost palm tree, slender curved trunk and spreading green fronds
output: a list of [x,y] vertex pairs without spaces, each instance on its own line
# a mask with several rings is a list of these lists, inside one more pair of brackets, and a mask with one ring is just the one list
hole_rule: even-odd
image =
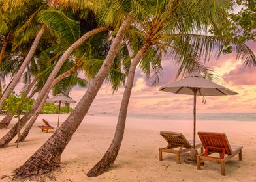
[[[203,4],[204,2],[202,1],[201,3]],[[211,2],[208,3],[211,4]],[[218,6],[218,4],[214,3],[214,1],[212,1],[212,3],[217,10],[227,11],[227,9],[223,8],[223,6],[216,7]],[[137,19],[138,24],[136,25],[136,30],[134,32],[142,36],[144,44],[136,53],[136,56],[134,57],[133,62],[131,63],[131,66],[129,68],[129,73],[125,84],[125,90],[121,101],[120,112],[118,115],[116,132],[114,134],[112,143],[110,144],[110,147],[104,154],[103,158],[93,168],[91,168],[91,170],[89,170],[87,174],[88,177],[95,177],[97,175],[103,174],[113,166],[114,161],[116,160],[124,135],[125,120],[127,116],[127,109],[131,96],[131,90],[133,88],[136,66],[141,62],[140,66],[146,64],[145,68],[146,70],[148,70],[147,68],[150,65],[149,63],[152,62],[152,59],[154,59],[154,57],[148,57],[146,55],[147,53],[152,53],[150,49],[153,49],[153,52],[155,53],[157,53],[159,50],[163,50],[163,52],[167,51],[169,54],[171,54],[174,59],[180,62],[181,67],[178,73],[180,73],[181,70],[184,70],[185,72],[199,70],[200,72],[202,72],[204,68],[201,66],[201,64],[199,64],[200,55],[206,55],[206,59],[208,59],[208,56],[210,57],[211,52],[214,51],[214,49],[217,49],[216,53],[221,53],[223,45],[227,42],[225,38],[201,36],[200,34],[194,35],[187,33],[189,31],[200,32],[201,27],[207,27],[209,21],[209,19],[207,19],[208,14],[199,14],[202,13],[199,9],[200,5],[202,4],[198,4],[196,1],[184,1],[182,3],[175,4],[174,1],[156,0],[152,8],[146,7],[149,12],[151,11],[151,13],[147,14],[146,17],[142,18],[141,20]],[[167,7],[170,9],[168,9]],[[189,14],[190,17],[186,17],[186,14],[184,13],[184,10],[188,9],[188,7],[191,8],[189,11],[187,11],[187,14]],[[209,6],[209,9],[207,10],[208,13],[210,12],[211,15],[215,15],[215,19],[225,20],[225,16],[221,17],[221,11],[219,11],[219,14],[216,14],[215,8]],[[183,14],[180,14],[179,17],[180,19],[184,20],[184,25],[182,25],[182,23],[179,23],[182,29],[180,29],[180,27],[176,27],[176,17],[170,16],[170,14],[179,14],[180,10],[183,10]],[[193,16],[192,12],[195,13],[196,16]],[[198,14],[199,16],[197,16]],[[188,23],[187,21],[192,22],[192,30],[189,29],[189,27],[185,27],[186,23]],[[193,21],[196,23],[193,23]],[[199,21],[200,27],[197,26],[197,23]],[[221,23],[221,21],[219,23]],[[186,29],[184,30],[184,28]],[[138,40],[138,37],[135,37],[134,35],[131,38],[135,38],[136,40]],[[168,41],[166,42],[166,40]],[[248,62],[249,57],[249,62],[254,62],[255,64],[255,55],[251,54],[251,51],[247,49],[246,45],[235,44],[234,47],[236,46],[238,47],[238,55],[243,54],[242,57],[244,58],[244,61]],[[201,47],[205,47],[204,50],[202,50]],[[240,49],[239,47],[243,47],[243,49]],[[159,53],[159,55],[161,55],[161,53]],[[148,57],[149,60],[143,60],[143,57]],[[157,60],[157,62],[155,62],[157,64],[152,66],[156,70],[161,69],[161,56],[158,58],[160,58],[160,60],[155,59]],[[142,68],[142,70],[144,69]]]

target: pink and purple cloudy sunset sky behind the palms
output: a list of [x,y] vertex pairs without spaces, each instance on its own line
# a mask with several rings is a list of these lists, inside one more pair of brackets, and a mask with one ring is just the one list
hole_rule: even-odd
[[[248,46],[256,54],[255,42]],[[135,82],[129,102],[128,113],[161,114],[161,113],[193,113],[193,96],[160,92],[159,87],[175,80],[178,66],[172,60],[163,60],[163,76],[158,86],[150,87],[144,74],[137,68]],[[208,96],[206,103],[202,97],[197,97],[197,112],[199,113],[244,113],[256,112],[256,68],[245,68],[236,55],[222,55],[218,60],[211,59],[211,68],[219,75],[215,82],[239,93],[235,96]],[[89,113],[118,113],[124,88],[112,93],[111,86],[104,83],[101,86]],[[86,88],[74,88],[71,97],[77,102],[82,98]],[[76,103],[77,104],[77,103]],[[76,104],[71,105],[74,107]]]

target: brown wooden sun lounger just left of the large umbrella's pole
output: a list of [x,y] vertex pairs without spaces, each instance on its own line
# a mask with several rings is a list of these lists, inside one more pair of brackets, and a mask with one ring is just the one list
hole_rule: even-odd
[[[176,154],[176,162],[180,164],[180,155],[182,153],[188,152],[193,148],[193,141],[188,141],[182,133],[170,132],[170,131],[160,131],[160,135],[165,138],[168,142],[167,147],[159,148],[159,160],[162,161],[162,153],[174,153]],[[202,144],[200,142],[196,142],[195,148],[201,148],[202,151]]]

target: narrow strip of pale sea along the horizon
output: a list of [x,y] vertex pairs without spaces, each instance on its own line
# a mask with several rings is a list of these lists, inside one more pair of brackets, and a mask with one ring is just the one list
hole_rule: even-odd
[[[98,116],[118,116],[117,113],[98,112]],[[128,113],[127,118],[142,118],[155,120],[193,120],[193,114],[137,114]],[[199,113],[197,120],[221,120],[221,121],[253,121],[256,122],[256,113]]]

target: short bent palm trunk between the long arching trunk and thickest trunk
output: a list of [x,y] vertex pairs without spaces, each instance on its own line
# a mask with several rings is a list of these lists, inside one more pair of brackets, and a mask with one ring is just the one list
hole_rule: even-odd
[[29,123],[27,124],[27,126],[25,127],[24,131],[22,132],[22,135],[20,135],[20,137],[16,140],[15,143],[17,142],[23,142],[25,140],[25,138],[27,137],[27,135],[29,135],[29,131],[32,128],[32,126],[34,125],[35,121],[37,120],[37,117],[39,116],[40,111],[42,110],[42,107],[44,106],[44,103],[46,103],[46,99],[47,96],[51,90],[51,88],[56,85],[59,81],[61,81],[62,79],[64,79],[65,77],[69,76],[72,72],[74,72],[74,70],[76,70],[77,65],[74,65],[71,69],[67,70],[67,72],[62,73],[61,75],[59,75],[56,79],[54,79],[52,85],[50,86],[47,94],[44,96],[44,98],[42,99],[39,107],[37,108],[35,114],[33,115],[33,117],[31,118],[31,120],[29,121]]

